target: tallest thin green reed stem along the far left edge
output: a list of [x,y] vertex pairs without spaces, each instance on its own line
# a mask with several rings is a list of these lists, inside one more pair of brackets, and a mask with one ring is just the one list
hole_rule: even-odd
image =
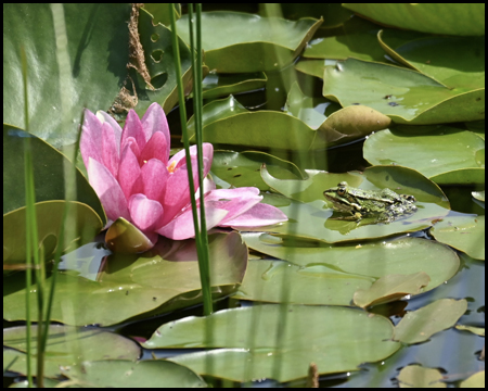
[[[24,47],[21,47],[21,59],[22,59],[22,78],[24,83],[24,121],[25,121],[25,131],[29,131],[29,108],[28,108],[28,92],[27,92],[27,58],[25,54]],[[30,346],[30,285],[33,282],[31,276],[31,255],[33,255],[33,231],[36,230],[36,226],[33,220],[34,203],[30,202],[30,188],[33,187],[33,182],[30,181],[31,173],[33,173],[33,157],[30,150],[30,138],[24,138],[24,187],[25,187],[25,228],[26,228],[26,270],[25,270],[25,311],[26,311],[26,354],[27,354],[27,384],[28,388],[31,388],[33,384],[33,369],[30,366],[30,358],[33,357],[33,351]]]

